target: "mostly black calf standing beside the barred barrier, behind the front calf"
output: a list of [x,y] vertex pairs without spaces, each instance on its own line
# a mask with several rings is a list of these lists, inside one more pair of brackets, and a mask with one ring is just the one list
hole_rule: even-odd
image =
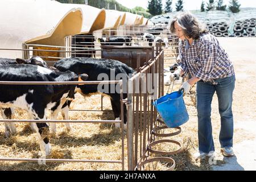
[[[123,64],[117,60],[110,59],[92,59],[86,57],[74,57],[61,59],[54,64],[54,67],[59,69],[60,71],[72,71],[76,74],[86,73],[88,75],[88,81],[100,81],[98,76],[104,73],[108,76],[109,80],[121,78],[117,78],[119,73],[122,73],[122,79],[128,79],[129,75],[134,73],[133,68],[128,67],[126,64]],[[112,74],[114,73],[114,78],[112,79]],[[106,80],[106,79],[105,79]],[[114,112],[115,119],[120,119],[121,114],[121,102],[120,102],[120,94],[116,92],[116,90],[111,90],[110,84],[106,84],[104,86],[108,86],[107,92],[102,92],[104,94],[108,94],[110,96],[110,101],[112,104],[112,109]],[[86,96],[90,93],[100,92],[98,90],[98,85],[78,85],[77,92],[82,94],[82,96]],[[123,94],[123,98],[126,98],[127,94]],[[70,103],[69,103],[70,104]],[[124,123],[126,124],[126,105],[123,104],[124,110]],[[115,125],[118,126],[118,125]]]

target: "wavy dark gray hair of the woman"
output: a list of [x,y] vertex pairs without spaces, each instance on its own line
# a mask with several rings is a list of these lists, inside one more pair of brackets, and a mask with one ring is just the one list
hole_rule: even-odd
[[177,24],[183,29],[184,35],[188,38],[198,39],[201,34],[208,32],[208,30],[204,28],[203,24],[197,20],[196,16],[189,12],[176,15],[172,19],[170,27],[172,34],[175,34],[175,22],[177,22]]

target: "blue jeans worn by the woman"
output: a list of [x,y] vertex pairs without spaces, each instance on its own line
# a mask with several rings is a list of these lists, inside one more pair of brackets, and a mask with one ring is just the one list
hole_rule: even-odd
[[218,111],[221,116],[220,144],[221,147],[233,147],[232,96],[236,78],[231,76],[217,78],[214,81],[218,84],[198,81],[196,88],[199,151],[205,153],[214,151],[210,105],[215,91],[218,97]]

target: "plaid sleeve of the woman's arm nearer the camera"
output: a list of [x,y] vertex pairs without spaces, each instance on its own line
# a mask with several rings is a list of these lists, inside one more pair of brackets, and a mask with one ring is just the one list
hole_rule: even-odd
[[202,44],[201,51],[199,52],[200,69],[195,73],[195,77],[200,78],[203,81],[209,81],[216,57],[217,48],[213,43],[208,42]]

